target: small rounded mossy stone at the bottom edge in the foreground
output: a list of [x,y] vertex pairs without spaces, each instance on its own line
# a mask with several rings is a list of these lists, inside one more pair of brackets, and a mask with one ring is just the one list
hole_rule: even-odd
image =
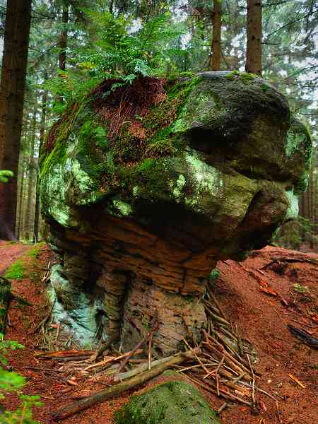
[[170,381],[133,396],[116,414],[117,424],[220,424],[191,384]]

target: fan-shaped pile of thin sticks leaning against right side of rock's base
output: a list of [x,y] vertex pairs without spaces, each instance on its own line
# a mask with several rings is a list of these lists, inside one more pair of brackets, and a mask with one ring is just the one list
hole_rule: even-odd
[[[237,329],[234,329],[225,317],[210,288],[204,304],[208,326],[207,330],[203,331],[201,351],[194,355],[192,365],[179,367],[178,372],[227,402],[240,402],[257,408],[257,391],[276,400],[271,394],[257,387],[259,377],[254,370],[255,352],[247,341],[237,335]],[[184,343],[193,351],[186,340]]]

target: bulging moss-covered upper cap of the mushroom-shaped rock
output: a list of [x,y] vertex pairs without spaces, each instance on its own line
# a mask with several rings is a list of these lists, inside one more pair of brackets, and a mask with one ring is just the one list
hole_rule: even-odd
[[160,87],[157,98],[146,108],[134,98],[117,132],[114,111],[134,84],[113,92],[103,82],[52,127],[40,174],[48,221],[89,232],[98,209],[192,252],[241,260],[297,215],[312,143],[269,83],[238,72],[136,83]]

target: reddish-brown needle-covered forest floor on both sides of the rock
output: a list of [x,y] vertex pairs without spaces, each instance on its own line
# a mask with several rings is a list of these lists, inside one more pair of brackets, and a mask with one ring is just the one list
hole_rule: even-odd
[[[21,307],[16,301],[11,302],[6,338],[22,343],[25,349],[10,353],[9,363],[28,379],[25,394],[41,396],[43,406],[35,408],[35,419],[40,423],[53,423],[51,413],[71,403],[76,396],[104,389],[107,384],[71,380],[71,376],[57,370],[54,360],[35,358],[34,352],[41,344],[41,334],[35,329],[47,316],[48,309],[43,276],[52,261],[52,253],[42,245],[35,264],[36,255],[28,254],[30,249],[32,247],[0,242],[0,275],[21,255],[30,270],[27,277],[12,281],[13,290],[32,305]],[[318,338],[318,264],[314,259],[317,254],[266,247],[252,252],[242,264],[230,260],[218,262],[220,276],[214,283],[214,293],[242,338],[257,351],[258,387],[278,399],[276,404],[269,397],[259,398],[257,394],[257,399],[261,399],[257,416],[252,415],[249,407],[236,404],[220,414],[221,423],[317,423],[318,350],[302,343],[287,327],[293,324]],[[266,281],[266,285],[261,281]],[[158,384],[158,380],[146,387],[153,384]],[[114,411],[134,393],[138,392],[128,392],[62,422],[111,424]],[[215,410],[223,404],[217,396],[204,394]],[[7,408],[15,408],[18,400],[8,396],[3,403]]]

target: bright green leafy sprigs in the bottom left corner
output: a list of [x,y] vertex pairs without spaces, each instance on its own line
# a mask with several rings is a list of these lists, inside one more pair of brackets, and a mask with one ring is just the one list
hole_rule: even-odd
[[[23,349],[20,343],[11,340],[4,340],[4,335],[0,333],[0,362],[6,365],[6,355],[8,350]],[[6,392],[15,392],[20,399],[20,406],[16,411],[4,411],[1,415],[1,424],[39,424],[32,418],[32,407],[41,406],[40,396],[27,396],[20,393],[26,381],[25,377],[17,372],[4,370],[0,367],[0,399],[5,399]]]

